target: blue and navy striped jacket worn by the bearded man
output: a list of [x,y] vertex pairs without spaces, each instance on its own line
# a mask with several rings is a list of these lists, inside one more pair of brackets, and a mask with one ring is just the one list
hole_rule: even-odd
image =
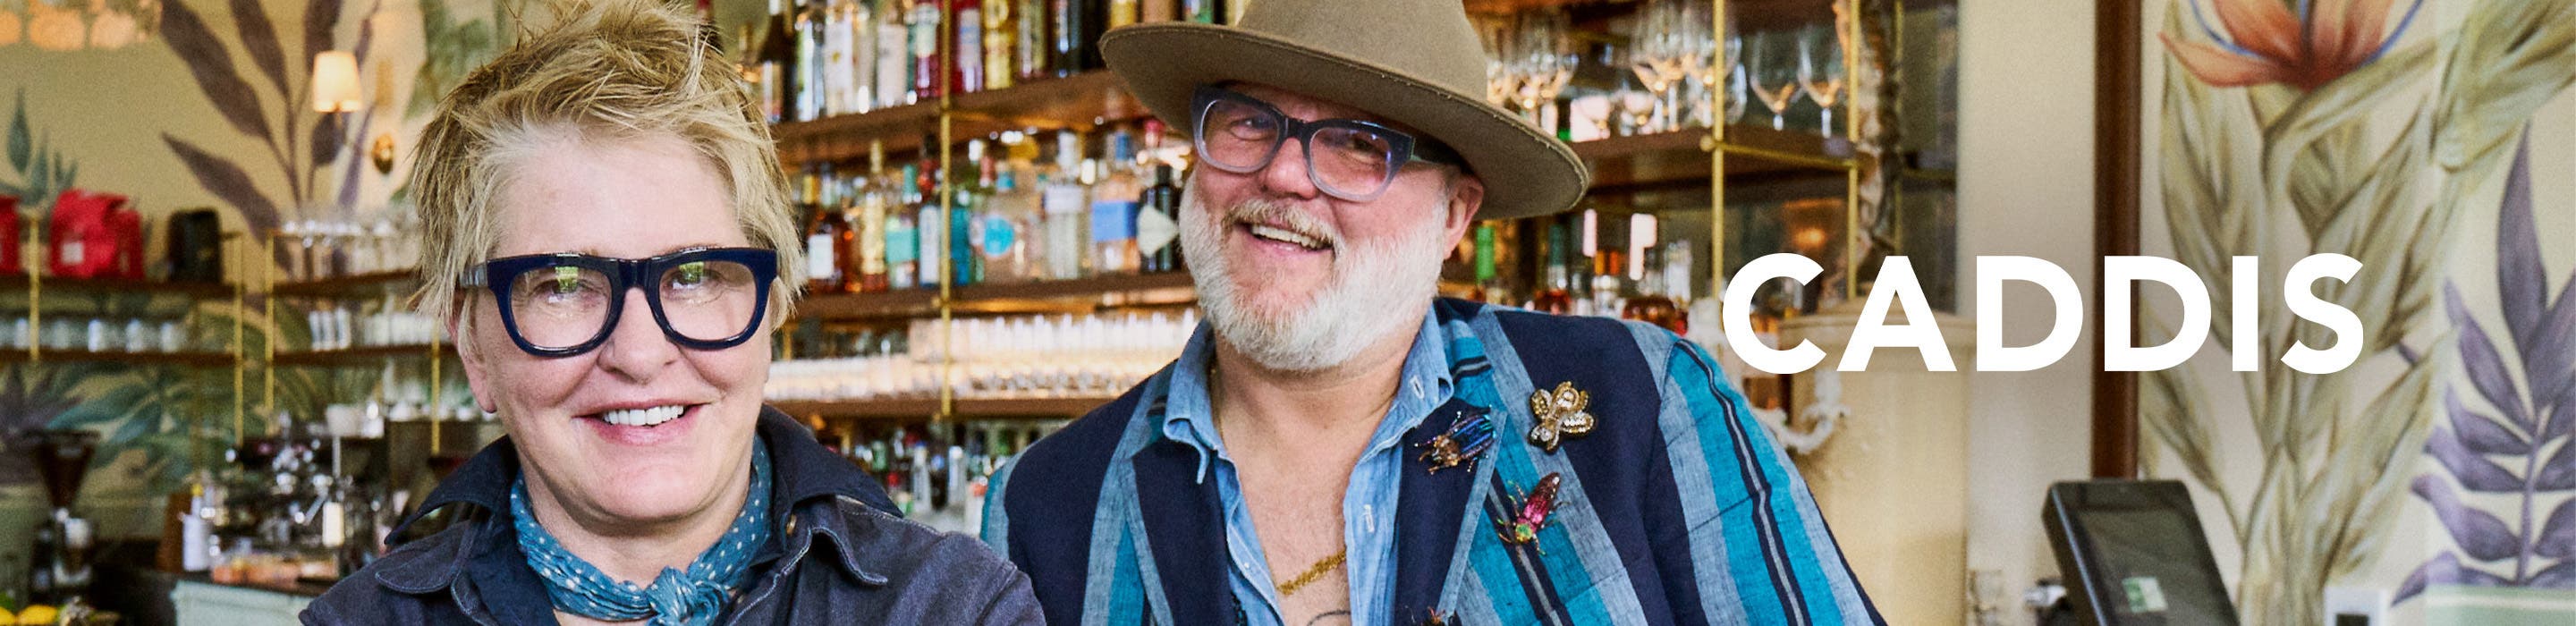
[[[1391,616],[1378,623],[1883,623],[1816,502],[1716,361],[1667,330],[1440,299],[1455,394],[1404,435]],[[1218,487],[1162,435],[1172,371],[1038,441],[992,479],[984,541],[1046,621],[1239,623]],[[1571,384],[1597,425],[1551,453],[1528,397]],[[1494,420],[1463,471],[1422,443]],[[1517,495],[1558,474],[1533,544]]]

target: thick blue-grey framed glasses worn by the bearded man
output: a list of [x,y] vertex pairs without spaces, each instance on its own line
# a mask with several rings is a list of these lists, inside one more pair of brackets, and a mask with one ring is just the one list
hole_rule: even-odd
[[1270,167],[1280,144],[1306,147],[1306,178],[1345,201],[1376,201],[1406,162],[1461,165],[1440,142],[1414,139],[1360,119],[1291,119],[1278,106],[1226,88],[1200,85],[1190,95],[1198,160],[1226,173]]

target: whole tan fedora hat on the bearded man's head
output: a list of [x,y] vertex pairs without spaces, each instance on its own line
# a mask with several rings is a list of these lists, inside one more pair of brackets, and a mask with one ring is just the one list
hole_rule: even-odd
[[1574,149],[1484,100],[1484,46],[1458,0],[1255,0],[1239,26],[1141,23],[1100,36],[1128,93],[1190,129],[1190,90],[1262,82],[1414,126],[1484,180],[1479,219],[1571,209]]

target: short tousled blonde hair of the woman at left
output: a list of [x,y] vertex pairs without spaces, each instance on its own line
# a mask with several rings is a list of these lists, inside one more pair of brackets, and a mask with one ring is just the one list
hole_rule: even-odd
[[415,307],[440,319],[461,312],[459,278],[500,245],[495,206],[531,147],[564,137],[677,137],[724,178],[742,234],[778,250],[770,319],[786,319],[804,283],[804,247],[770,126],[742,72],[677,3],[556,0],[544,10],[551,26],[520,31],[507,52],[466,75],[420,134]]

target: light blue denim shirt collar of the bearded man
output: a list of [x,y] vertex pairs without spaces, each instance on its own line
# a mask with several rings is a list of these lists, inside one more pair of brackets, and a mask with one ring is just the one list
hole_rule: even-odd
[[[1422,425],[1435,407],[1445,404],[1455,394],[1458,384],[1450,374],[1448,332],[1443,332],[1437,312],[1422,314],[1422,327],[1414,330],[1414,345],[1404,353],[1404,371],[1396,379],[1396,399],[1388,404],[1386,415],[1378,417],[1378,430],[1368,435],[1368,453],[1396,446],[1404,433]],[[1211,322],[1198,322],[1190,332],[1190,343],[1180,348],[1180,358],[1172,361],[1170,389],[1159,402],[1162,435],[1198,451],[1198,482],[1208,479],[1208,466],[1226,456],[1226,441],[1216,435],[1216,407],[1208,402],[1208,363],[1216,358],[1216,330]]]

